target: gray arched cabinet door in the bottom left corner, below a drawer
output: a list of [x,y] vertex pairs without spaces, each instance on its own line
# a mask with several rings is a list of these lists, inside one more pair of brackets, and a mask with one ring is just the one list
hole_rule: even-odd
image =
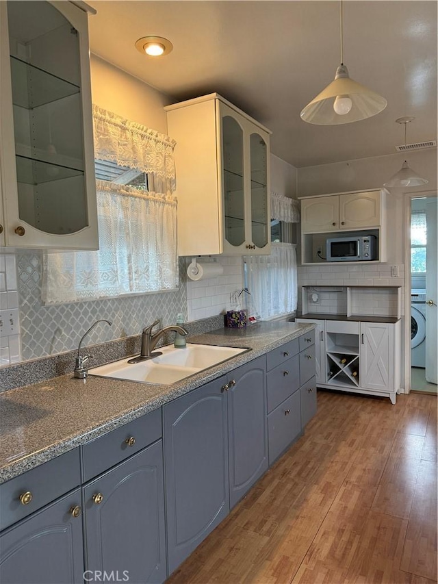
[[3,532],[1,584],[83,583],[82,521],[70,513],[80,504],[77,489]]

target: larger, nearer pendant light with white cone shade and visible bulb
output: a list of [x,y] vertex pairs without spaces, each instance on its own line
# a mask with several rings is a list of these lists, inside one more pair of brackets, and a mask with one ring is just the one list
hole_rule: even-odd
[[306,105],[300,116],[309,124],[337,125],[371,118],[385,110],[387,101],[378,93],[350,79],[344,65],[343,5],[341,13],[341,64],[332,81],[320,94]]

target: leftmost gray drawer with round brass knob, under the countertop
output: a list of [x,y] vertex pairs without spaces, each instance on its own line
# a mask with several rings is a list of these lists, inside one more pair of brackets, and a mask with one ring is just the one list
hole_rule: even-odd
[[[79,448],[44,462],[0,485],[0,529],[27,517],[81,483]],[[27,496],[25,503],[20,496]]]

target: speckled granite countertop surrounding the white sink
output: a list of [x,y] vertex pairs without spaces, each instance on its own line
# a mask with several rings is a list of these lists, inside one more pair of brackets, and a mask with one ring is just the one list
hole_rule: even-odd
[[0,483],[272,351],[313,329],[294,322],[259,322],[246,329],[191,335],[188,342],[248,347],[237,355],[172,385],[152,385],[73,374],[0,394]]

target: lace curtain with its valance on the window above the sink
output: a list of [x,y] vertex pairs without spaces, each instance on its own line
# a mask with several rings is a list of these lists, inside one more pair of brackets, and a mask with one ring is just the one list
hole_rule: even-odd
[[[42,301],[96,300],[178,285],[175,141],[94,106],[95,155],[116,170],[96,181],[99,251],[47,253]],[[136,172],[126,172],[127,169]],[[135,177],[146,173],[136,186]],[[131,186],[121,183],[123,177]],[[133,180],[134,177],[134,180]]]

